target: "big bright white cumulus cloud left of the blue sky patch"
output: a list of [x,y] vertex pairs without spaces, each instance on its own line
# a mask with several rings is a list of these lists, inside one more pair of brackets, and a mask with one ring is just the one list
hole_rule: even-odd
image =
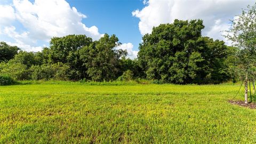
[[[86,27],[84,18],[86,15],[65,0],[13,0],[10,5],[0,5],[0,34],[25,50],[37,50],[38,41],[49,42],[54,36],[85,34],[98,40],[102,34],[96,26]],[[13,21],[21,23],[23,31],[10,25]]]

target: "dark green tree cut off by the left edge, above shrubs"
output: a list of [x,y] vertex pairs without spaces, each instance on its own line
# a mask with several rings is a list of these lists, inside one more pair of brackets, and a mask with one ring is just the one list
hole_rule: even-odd
[[10,46],[5,42],[0,42],[0,62],[9,61],[19,50],[17,46]]

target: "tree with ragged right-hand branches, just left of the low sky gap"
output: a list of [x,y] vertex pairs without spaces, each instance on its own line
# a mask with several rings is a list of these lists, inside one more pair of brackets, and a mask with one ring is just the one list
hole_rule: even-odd
[[87,75],[93,81],[110,81],[117,78],[120,69],[121,57],[127,55],[126,51],[116,50],[118,38],[115,35],[105,34],[89,46],[80,51],[80,59],[87,68]]

